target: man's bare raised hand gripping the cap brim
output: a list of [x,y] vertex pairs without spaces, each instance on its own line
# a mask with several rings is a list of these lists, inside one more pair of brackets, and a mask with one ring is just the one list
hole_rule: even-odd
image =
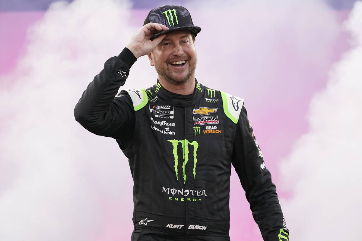
[[127,48],[137,59],[140,56],[147,55],[156,48],[162,39],[165,38],[166,34],[157,36],[153,41],[150,40],[151,37],[165,30],[168,30],[168,27],[160,23],[147,23],[143,27],[140,27],[137,33],[132,36]]

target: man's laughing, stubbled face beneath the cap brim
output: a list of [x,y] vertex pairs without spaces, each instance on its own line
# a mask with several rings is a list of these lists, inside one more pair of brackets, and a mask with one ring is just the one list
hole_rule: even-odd
[[161,43],[148,54],[151,66],[173,85],[182,85],[195,78],[197,56],[191,32],[168,33]]

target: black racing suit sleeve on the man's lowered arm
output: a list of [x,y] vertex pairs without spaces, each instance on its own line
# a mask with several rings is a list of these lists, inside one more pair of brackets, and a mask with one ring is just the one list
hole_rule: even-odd
[[288,241],[289,230],[275,185],[243,107],[236,127],[232,164],[265,241]]

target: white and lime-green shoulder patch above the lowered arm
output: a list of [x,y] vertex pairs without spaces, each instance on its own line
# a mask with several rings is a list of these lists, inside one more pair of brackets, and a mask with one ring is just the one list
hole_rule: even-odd
[[225,115],[232,120],[235,124],[239,120],[239,115],[241,108],[244,104],[244,99],[235,97],[233,95],[227,94],[220,90],[221,98],[223,99],[223,109]]

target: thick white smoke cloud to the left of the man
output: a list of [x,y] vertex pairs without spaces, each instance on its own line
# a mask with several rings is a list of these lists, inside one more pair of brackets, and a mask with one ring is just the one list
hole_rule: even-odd
[[[29,31],[14,73],[1,79],[0,240],[101,240],[116,221],[122,228],[113,236],[129,239],[132,209],[121,208],[132,205],[128,162],[113,139],[88,133],[73,117],[104,61],[138,29],[129,7],[52,4]],[[150,67],[137,76],[152,74]]]

